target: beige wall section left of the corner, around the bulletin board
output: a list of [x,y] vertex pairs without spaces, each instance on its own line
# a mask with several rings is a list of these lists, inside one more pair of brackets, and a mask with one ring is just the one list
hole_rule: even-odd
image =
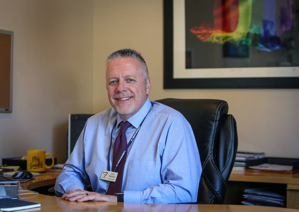
[[69,113],[92,112],[93,2],[0,0],[14,31],[13,112],[0,113],[0,157],[66,157]]

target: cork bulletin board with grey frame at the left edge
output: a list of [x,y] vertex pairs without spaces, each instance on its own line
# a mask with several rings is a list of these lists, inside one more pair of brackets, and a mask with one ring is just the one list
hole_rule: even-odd
[[0,112],[12,112],[13,32],[0,30]]

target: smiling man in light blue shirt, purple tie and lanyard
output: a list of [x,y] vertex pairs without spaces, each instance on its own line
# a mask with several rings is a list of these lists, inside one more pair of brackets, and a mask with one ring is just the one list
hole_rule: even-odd
[[196,202],[202,167],[193,131],[181,113],[149,101],[151,81],[139,52],[121,49],[108,56],[106,88],[112,108],[87,120],[56,180],[57,196],[79,202]]

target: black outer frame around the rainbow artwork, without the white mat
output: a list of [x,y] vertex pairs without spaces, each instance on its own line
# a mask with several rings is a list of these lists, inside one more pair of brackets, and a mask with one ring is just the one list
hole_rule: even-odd
[[299,77],[174,78],[173,0],[164,0],[164,89],[299,88]]

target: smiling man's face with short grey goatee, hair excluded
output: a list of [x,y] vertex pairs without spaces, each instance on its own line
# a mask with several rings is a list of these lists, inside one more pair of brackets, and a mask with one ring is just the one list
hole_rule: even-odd
[[149,95],[150,79],[144,79],[143,69],[134,58],[118,58],[107,64],[108,99],[123,120],[137,113]]

